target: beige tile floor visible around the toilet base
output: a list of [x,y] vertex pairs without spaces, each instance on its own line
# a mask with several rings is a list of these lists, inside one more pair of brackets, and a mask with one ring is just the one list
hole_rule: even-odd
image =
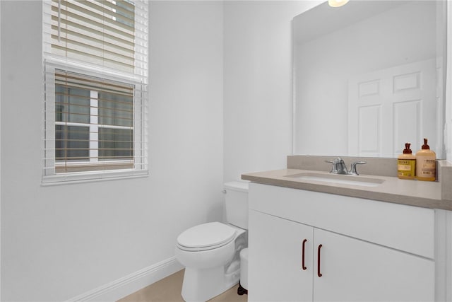
[[[165,279],[150,284],[135,293],[121,298],[118,302],[183,302],[181,296],[182,279],[184,279],[184,269],[176,272]],[[225,293],[209,300],[211,302],[246,302],[247,296],[237,295],[236,285]]]

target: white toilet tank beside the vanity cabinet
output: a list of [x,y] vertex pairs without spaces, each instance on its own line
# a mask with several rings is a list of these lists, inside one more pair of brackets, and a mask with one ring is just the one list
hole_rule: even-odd
[[248,229],[248,181],[226,182],[225,205],[226,221]]

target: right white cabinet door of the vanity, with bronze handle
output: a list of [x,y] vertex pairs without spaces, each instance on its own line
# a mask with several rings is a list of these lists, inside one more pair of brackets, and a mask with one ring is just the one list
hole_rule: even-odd
[[434,301],[434,261],[314,230],[314,301]]

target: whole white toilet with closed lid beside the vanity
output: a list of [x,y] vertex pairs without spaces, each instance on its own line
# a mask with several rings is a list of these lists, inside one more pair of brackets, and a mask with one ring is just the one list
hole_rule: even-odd
[[248,245],[248,182],[226,182],[224,187],[227,224],[203,223],[177,237],[185,301],[207,301],[239,282],[239,254]]

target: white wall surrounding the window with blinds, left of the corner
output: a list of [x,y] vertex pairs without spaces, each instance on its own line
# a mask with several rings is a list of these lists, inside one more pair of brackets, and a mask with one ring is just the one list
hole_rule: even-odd
[[222,3],[150,4],[150,176],[41,186],[42,4],[1,5],[1,301],[64,301],[222,215]]

